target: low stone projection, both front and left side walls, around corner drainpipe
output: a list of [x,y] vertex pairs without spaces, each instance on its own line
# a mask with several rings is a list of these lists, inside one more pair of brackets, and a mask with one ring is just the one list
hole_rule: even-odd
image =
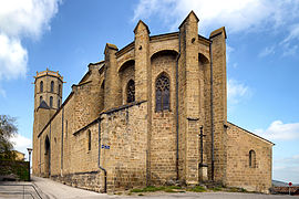
[[107,172],[107,191],[145,186],[146,111],[146,102],[127,104],[102,113],[101,126],[95,121],[70,135],[72,153],[69,171],[56,174],[54,166],[51,178],[73,187],[103,192],[104,171],[101,166]]

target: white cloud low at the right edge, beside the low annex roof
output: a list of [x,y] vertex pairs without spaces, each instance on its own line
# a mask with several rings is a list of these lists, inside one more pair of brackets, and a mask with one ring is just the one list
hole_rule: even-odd
[[299,139],[299,123],[283,124],[275,121],[265,129],[256,129],[256,134],[272,140],[293,140]]

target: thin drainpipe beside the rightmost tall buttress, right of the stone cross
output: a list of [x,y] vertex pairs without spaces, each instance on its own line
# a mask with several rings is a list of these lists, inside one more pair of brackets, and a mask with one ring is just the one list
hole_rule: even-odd
[[214,104],[213,104],[213,52],[212,43],[209,43],[209,56],[210,56],[210,132],[212,132],[212,181],[214,181]]

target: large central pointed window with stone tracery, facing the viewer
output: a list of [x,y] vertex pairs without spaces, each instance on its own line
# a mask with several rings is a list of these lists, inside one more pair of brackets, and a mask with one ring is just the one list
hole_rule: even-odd
[[171,109],[169,106],[169,78],[162,74],[156,80],[156,112]]

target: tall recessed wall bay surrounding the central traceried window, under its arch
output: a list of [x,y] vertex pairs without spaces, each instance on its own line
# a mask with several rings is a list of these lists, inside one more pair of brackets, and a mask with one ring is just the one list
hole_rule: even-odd
[[[162,51],[151,59],[152,67],[152,136],[151,136],[151,182],[163,185],[176,179],[176,101],[175,64],[176,52]],[[156,112],[157,77],[164,74],[169,78],[169,111]]]

